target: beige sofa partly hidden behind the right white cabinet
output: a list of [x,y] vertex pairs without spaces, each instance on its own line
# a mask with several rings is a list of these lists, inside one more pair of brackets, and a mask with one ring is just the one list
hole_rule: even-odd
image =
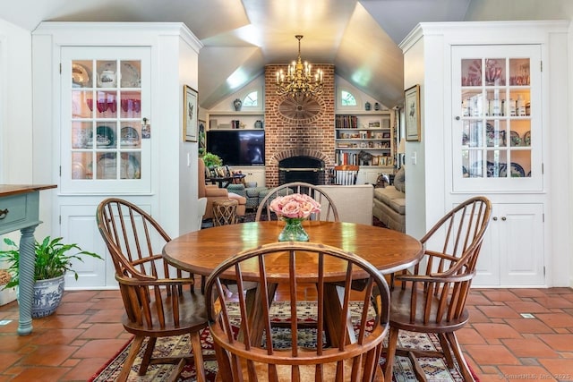
[[394,185],[374,189],[372,215],[388,228],[406,232],[405,168],[394,177]]

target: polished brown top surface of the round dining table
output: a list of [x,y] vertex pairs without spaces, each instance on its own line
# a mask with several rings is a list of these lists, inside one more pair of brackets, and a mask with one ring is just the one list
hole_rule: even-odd
[[[223,260],[263,244],[278,241],[282,221],[263,221],[222,225],[185,233],[163,248],[163,256],[172,264],[193,274],[209,276]],[[406,233],[373,225],[305,221],[310,242],[320,242],[353,252],[369,261],[384,274],[410,267],[423,254],[422,244]],[[278,270],[279,266],[275,270]],[[288,263],[284,264],[288,269]],[[286,272],[287,273],[287,272]]]

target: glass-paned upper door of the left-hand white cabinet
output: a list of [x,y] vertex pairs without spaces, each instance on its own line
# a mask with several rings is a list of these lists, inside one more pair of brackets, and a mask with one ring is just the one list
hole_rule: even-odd
[[149,50],[64,48],[62,65],[63,191],[150,191]]

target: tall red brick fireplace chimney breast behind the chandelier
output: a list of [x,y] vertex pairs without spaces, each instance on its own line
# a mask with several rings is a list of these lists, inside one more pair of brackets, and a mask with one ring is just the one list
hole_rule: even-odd
[[265,67],[265,182],[279,184],[279,162],[290,157],[310,157],[323,164],[318,183],[326,183],[334,166],[334,65],[313,64],[321,69],[324,89],[316,98],[278,96],[276,72],[284,65]]

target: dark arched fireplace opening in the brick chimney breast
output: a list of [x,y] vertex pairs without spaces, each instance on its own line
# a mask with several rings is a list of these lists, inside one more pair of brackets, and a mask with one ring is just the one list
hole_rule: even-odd
[[324,162],[315,157],[287,157],[278,162],[278,184],[304,182],[325,183]]

